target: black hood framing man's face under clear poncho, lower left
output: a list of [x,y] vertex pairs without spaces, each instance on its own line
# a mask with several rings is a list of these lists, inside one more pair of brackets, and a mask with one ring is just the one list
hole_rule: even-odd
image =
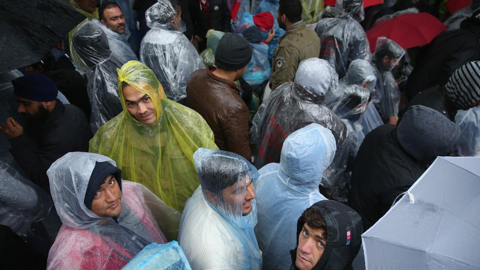
[[121,190],[121,170],[108,161],[95,162],[95,168],[93,168],[90,180],[88,180],[87,192],[84,198],[84,204],[88,209],[92,209],[92,202],[96,191],[110,174],[113,174]]

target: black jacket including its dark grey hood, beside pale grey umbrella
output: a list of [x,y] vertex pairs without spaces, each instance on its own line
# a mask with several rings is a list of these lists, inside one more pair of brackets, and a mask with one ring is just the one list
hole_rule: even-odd
[[353,164],[350,207],[369,229],[437,156],[456,144],[460,128],[436,110],[412,106],[398,126],[384,124],[365,136]]

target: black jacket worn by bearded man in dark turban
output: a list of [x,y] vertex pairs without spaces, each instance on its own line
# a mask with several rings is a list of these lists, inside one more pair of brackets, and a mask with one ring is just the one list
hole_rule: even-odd
[[50,194],[47,170],[68,152],[88,152],[92,131],[79,108],[57,105],[37,128],[24,127],[24,134],[10,139],[10,153],[20,164],[28,179]]

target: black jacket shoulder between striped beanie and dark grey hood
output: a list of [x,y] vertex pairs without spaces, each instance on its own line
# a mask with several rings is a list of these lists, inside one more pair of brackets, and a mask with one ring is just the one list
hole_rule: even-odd
[[[408,108],[414,105],[423,105],[437,110],[450,119],[450,121],[455,123],[457,109],[445,91],[444,86],[433,86],[425,91],[421,91],[410,102],[408,102],[404,111],[407,111]],[[399,122],[401,121],[402,116],[403,114],[400,115]]]

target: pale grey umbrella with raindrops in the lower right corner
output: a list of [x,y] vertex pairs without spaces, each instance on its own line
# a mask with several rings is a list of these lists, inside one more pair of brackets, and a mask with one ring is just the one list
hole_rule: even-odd
[[479,269],[479,162],[438,157],[362,234],[367,270]]

